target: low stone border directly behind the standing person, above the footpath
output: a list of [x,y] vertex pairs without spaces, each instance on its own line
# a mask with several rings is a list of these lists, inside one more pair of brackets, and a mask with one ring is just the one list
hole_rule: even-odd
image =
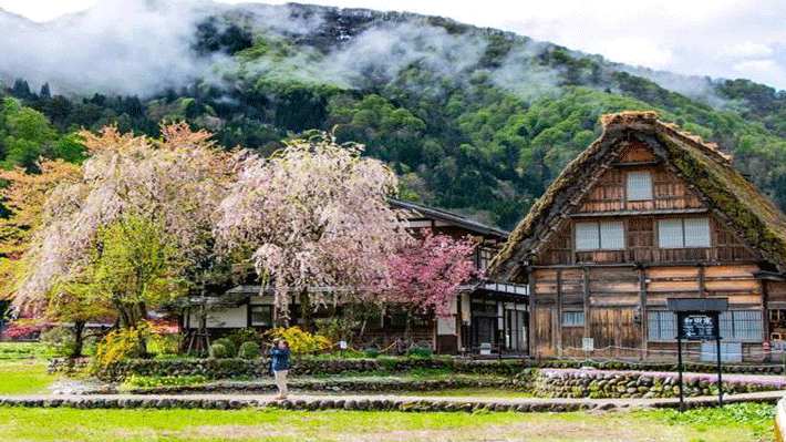
[[[319,392],[369,392],[386,393],[399,391],[438,391],[462,388],[498,388],[498,389],[520,389],[514,380],[495,379],[439,379],[439,380],[397,380],[397,379],[347,379],[330,381],[290,381],[287,383],[290,390],[297,391],[319,391]],[[517,388],[519,387],[519,388]],[[528,387],[528,386],[526,386]],[[127,390],[131,394],[194,394],[194,393],[270,393],[277,391],[276,384],[268,382],[217,382],[205,386],[177,386],[177,387],[153,387],[136,388]],[[96,391],[96,394],[101,394]]]

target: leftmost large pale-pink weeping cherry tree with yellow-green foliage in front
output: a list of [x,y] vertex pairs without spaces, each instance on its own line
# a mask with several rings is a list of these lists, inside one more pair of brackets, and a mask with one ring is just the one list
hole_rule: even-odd
[[90,157],[75,179],[49,194],[14,304],[46,309],[80,294],[85,308],[108,304],[122,326],[135,327],[151,304],[198,279],[187,269],[211,260],[214,216],[235,176],[234,156],[185,123],[163,125],[159,140],[116,127],[80,135]]

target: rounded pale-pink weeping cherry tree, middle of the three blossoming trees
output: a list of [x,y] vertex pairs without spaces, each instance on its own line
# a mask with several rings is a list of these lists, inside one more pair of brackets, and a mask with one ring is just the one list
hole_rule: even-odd
[[352,301],[387,278],[385,257],[406,236],[386,201],[397,181],[361,152],[321,134],[270,158],[248,156],[221,203],[221,244],[250,250],[262,287],[273,291],[279,325],[289,321],[292,294],[311,328],[317,305]]

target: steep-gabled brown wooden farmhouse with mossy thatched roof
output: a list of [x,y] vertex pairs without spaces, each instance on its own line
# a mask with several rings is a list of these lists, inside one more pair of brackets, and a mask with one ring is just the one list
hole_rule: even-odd
[[[786,338],[786,216],[713,144],[654,113],[602,119],[495,257],[527,284],[530,354],[673,360],[669,298],[728,298],[727,361],[767,358]],[[777,343],[777,342],[774,342]],[[714,342],[692,341],[713,360]]]

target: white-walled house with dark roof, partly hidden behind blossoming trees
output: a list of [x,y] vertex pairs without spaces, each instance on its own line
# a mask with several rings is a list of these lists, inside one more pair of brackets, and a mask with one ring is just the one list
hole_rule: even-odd
[[[389,204],[399,210],[406,219],[413,233],[421,228],[432,228],[433,232],[449,235],[455,238],[469,235],[476,243],[475,264],[479,270],[488,267],[492,258],[505,243],[508,232],[474,222],[464,216],[424,206],[421,204],[391,198]],[[313,290],[331,290],[332,288],[314,287]],[[445,319],[433,316],[415,318],[413,340],[420,345],[428,345],[439,353],[453,354],[476,349],[480,345],[498,350],[507,342],[505,349],[526,352],[526,286],[489,284],[474,281],[462,287],[462,295],[454,305],[454,313]],[[296,301],[290,306],[294,325],[301,323],[300,306]],[[216,296],[206,304],[206,329],[213,336],[221,336],[238,328],[255,328],[266,330],[272,327],[272,294],[260,294],[258,285],[241,285],[227,290],[223,296]],[[199,328],[199,300],[192,302],[182,317],[180,327],[195,333]],[[322,309],[312,316],[328,317],[341,311]],[[473,310],[474,309],[474,310]],[[505,333],[506,327],[509,329]],[[379,315],[366,323],[363,341],[386,346],[391,341],[403,338],[406,328],[406,316],[395,310],[380,310]],[[507,336],[505,340],[504,336]]]

